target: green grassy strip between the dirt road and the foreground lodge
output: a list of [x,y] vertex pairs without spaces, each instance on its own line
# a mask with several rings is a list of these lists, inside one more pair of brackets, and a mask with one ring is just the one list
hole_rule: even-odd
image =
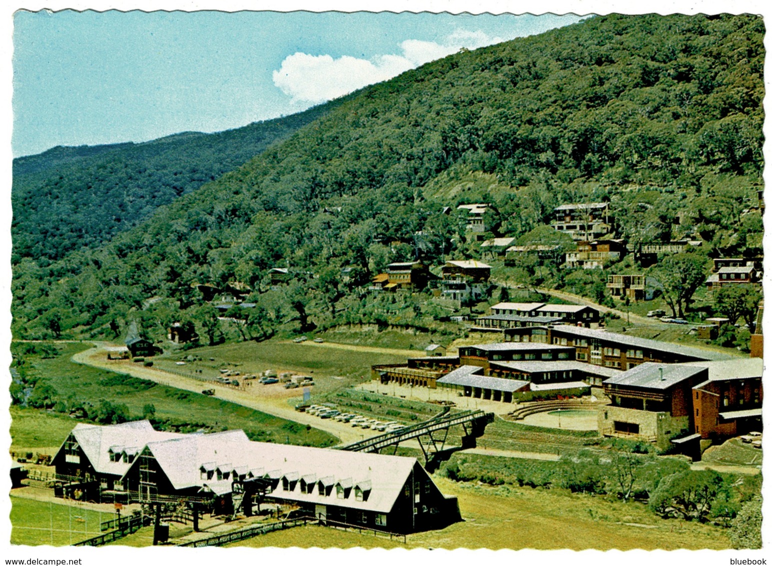
[[[261,413],[255,409],[229,403],[220,399],[158,385],[144,379],[137,379],[102,369],[81,366],[70,361],[75,352],[88,345],[63,345],[59,355],[52,359],[30,358],[28,371],[46,378],[58,392],[60,399],[74,397],[93,405],[90,413],[97,409],[101,399],[110,403],[123,403],[131,418],[143,415],[144,406],[155,407],[154,418],[167,421],[169,428],[192,432],[205,430],[243,429],[252,440],[279,443],[330,446],[334,436],[315,428]],[[40,412],[40,414],[46,414]],[[74,422],[70,420],[70,427]],[[17,432],[23,436],[36,434],[34,430],[20,423]],[[34,423],[32,423],[34,426]],[[24,432],[24,430],[27,432]],[[21,441],[14,442],[21,446]]]

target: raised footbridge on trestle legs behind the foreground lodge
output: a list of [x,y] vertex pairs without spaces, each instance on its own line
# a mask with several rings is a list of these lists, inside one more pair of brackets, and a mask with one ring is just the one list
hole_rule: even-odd
[[[421,446],[424,453],[426,469],[432,471],[456,450],[477,446],[477,439],[485,433],[485,427],[489,423],[493,423],[494,418],[493,413],[485,413],[480,410],[440,414],[422,423],[406,426],[404,429],[339,446],[338,450],[380,453],[384,448],[394,446],[394,453],[396,453],[401,442],[415,439],[418,440],[418,446]],[[461,437],[461,446],[454,446],[446,450],[445,440],[447,440],[448,432],[452,426],[462,426],[464,436]]]

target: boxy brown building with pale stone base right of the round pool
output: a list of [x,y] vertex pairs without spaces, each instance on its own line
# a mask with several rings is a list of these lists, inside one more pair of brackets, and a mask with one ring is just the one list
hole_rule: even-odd
[[692,387],[707,379],[706,367],[652,362],[606,379],[611,404],[598,412],[598,431],[669,448],[674,437],[694,430]]

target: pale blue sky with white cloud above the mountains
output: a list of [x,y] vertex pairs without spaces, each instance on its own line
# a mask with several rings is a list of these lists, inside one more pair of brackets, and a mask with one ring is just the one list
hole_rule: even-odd
[[14,156],[227,130],[576,15],[16,12]]

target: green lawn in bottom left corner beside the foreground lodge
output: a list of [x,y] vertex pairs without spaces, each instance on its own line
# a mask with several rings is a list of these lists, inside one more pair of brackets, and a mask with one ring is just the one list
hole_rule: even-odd
[[100,513],[60,501],[12,496],[11,504],[11,544],[75,544],[101,534],[100,522],[115,518],[113,513]]

